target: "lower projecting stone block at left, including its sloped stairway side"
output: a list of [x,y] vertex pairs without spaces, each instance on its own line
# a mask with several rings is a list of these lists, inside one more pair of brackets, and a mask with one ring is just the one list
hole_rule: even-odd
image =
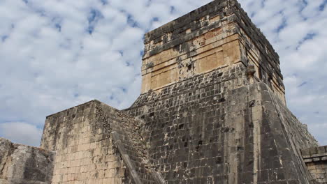
[[41,147],[57,151],[52,183],[154,183],[139,127],[96,100],[48,116]]

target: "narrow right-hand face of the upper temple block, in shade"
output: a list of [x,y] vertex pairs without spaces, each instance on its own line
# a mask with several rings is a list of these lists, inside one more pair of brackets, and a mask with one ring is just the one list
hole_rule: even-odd
[[237,22],[240,35],[240,50],[242,61],[255,67],[254,77],[268,84],[271,90],[284,104],[285,87],[283,75],[279,68],[279,56],[266,37],[251,22],[247,13],[235,1],[233,3],[233,21]]

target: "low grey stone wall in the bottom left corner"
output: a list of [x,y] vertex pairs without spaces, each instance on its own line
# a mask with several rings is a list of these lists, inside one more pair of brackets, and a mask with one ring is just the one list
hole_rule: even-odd
[[0,138],[0,183],[48,184],[53,160],[54,152]]

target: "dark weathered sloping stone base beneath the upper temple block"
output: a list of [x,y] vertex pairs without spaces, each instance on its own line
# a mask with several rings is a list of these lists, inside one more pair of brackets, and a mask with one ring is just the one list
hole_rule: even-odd
[[317,141],[246,70],[194,75],[126,109],[145,121],[150,160],[168,183],[310,183],[300,148]]

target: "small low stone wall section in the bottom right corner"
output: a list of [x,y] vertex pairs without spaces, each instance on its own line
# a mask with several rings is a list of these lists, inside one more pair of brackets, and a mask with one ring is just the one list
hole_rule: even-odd
[[327,183],[327,146],[302,150],[307,168],[317,183]]

